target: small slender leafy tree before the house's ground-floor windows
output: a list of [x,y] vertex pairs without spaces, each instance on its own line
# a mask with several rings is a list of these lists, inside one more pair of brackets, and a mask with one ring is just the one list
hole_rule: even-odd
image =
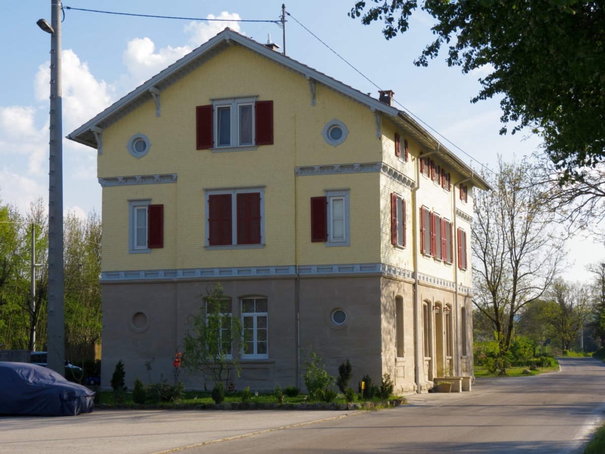
[[232,317],[231,299],[220,284],[207,291],[198,314],[189,315],[187,327],[181,341],[185,370],[203,373],[215,386],[229,377],[231,368],[240,376],[240,361],[234,351],[241,338],[241,322]]

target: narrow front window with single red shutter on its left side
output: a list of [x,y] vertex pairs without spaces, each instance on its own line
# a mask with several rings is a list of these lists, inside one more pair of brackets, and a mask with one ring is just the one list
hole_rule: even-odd
[[348,189],[311,197],[311,241],[350,246]]

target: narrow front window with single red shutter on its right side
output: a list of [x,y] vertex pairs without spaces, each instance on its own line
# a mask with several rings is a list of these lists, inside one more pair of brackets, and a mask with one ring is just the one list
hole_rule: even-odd
[[151,200],[129,202],[129,253],[149,253],[164,247],[164,206]]

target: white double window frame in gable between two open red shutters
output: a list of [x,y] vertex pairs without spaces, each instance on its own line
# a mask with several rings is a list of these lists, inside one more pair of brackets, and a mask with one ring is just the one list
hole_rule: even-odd
[[[231,97],[224,99],[214,99],[212,100],[213,107],[213,128],[214,128],[214,151],[233,151],[234,149],[238,150],[256,150],[256,114],[254,105],[257,102],[258,96],[247,96],[247,97]],[[241,143],[240,137],[240,128],[241,128],[241,117],[240,117],[240,107],[250,106],[252,108],[252,124],[250,127],[252,131],[250,131],[251,141],[250,143]],[[220,125],[219,125],[219,116],[218,112],[221,109],[229,108],[229,143],[227,145],[220,145],[218,143],[220,136]]]

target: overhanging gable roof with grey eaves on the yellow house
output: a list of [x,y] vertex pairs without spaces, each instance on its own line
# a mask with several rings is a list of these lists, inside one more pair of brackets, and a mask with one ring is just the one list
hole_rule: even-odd
[[76,130],[68,134],[67,138],[74,140],[74,142],[83,143],[83,145],[96,148],[97,140],[95,137],[95,130],[100,131],[109,127],[128,113],[134,111],[140,105],[153,99],[155,94],[159,94],[172,84],[175,84],[175,82],[191,73],[191,71],[194,71],[195,68],[203,65],[231,45],[242,45],[277,64],[283,65],[292,71],[296,71],[308,80],[319,82],[360,104],[367,105],[372,111],[386,116],[389,120],[394,122],[397,127],[402,128],[402,130],[406,131],[410,136],[414,137],[415,140],[428,148],[429,151],[436,151],[436,153],[439,154],[440,159],[456,169],[462,176],[471,179],[471,184],[484,190],[491,189],[489,184],[483,180],[482,177],[477,176],[473,169],[469,168],[469,166],[460,160],[454,153],[443,146],[439,140],[435,139],[427,130],[421,127],[409,114],[387,105],[368,94],[362,93],[349,85],[343,84],[342,82],[333,79],[333,77],[329,77],[320,71],[278,53],[275,50],[266,47],[264,44],[260,44],[253,39],[247,38],[230,28],[225,28],[214,36],[214,38],[211,38],[209,41],[200,45],[200,47],[191,51],[191,53],[183,58],[178,59],[172,65],[160,71],[160,73],[155,74],[155,76],[151,77],[148,81],[143,82],[142,85],[139,85],[139,87],[126,94],[126,96],[114,102],[110,107],[88,120],[88,122],[84,123],[79,128],[76,128]]

